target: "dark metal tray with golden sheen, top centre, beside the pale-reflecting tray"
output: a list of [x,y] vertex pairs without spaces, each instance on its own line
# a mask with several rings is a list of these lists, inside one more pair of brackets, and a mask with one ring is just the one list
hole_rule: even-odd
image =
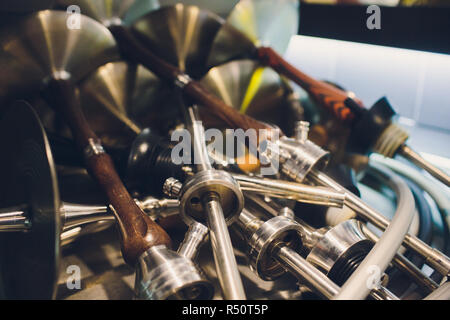
[[132,29],[160,58],[198,77],[207,71],[206,58],[223,22],[212,12],[178,3],[148,13]]

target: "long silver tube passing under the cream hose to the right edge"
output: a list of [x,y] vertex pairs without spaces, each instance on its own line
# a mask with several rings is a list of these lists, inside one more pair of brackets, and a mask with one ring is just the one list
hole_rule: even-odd
[[[345,204],[354,210],[362,219],[369,221],[382,230],[386,230],[389,226],[389,220],[383,214],[364,203],[364,201],[358,198],[355,194],[346,190],[326,174],[313,170],[309,175],[309,179],[319,185],[345,192]],[[407,234],[403,241],[403,245],[424,257],[426,259],[426,263],[440,274],[447,276],[450,273],[450,259],[445,254],[431,248],[419,238]]]

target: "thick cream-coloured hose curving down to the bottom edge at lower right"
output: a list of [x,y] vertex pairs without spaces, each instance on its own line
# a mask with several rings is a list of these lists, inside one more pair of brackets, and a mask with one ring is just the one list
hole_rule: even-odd
[[336,300],[354,300],[367,297],[372,289],[368,285],[369,277],[373,273],[370,270],[376,268],[380,274],[386,270],[402,245],[403,238],[414,218],[414,198],[406,183],[388,169],[373,166],[371,170],[374,170],[377,176],[381,176],[386,184],[394,190],[397,195],[397,210],[380,240],[344,283],[341,291],[334,298]]

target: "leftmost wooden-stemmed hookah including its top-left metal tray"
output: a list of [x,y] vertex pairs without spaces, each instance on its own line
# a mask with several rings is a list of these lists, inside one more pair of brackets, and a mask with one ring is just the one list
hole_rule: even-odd
[[[8,59],[1,59],[0,62],[5,70],[9,70],[9,65],[16,66],[23,64],[24,61],[21,59],[21,52],[32,51],[36,55],[31,61],[40,67],[40,73],[37,73],[37,75],[41,75],[41,77],[36,78],[36,74],[31,73],[31,75],[35,76],[32,78],[35,80],[32,88],[42,86],[43,79],[46,80],[44,81],[45,88],[43,90],[43,96],[47,98],[46,100],[48,103],[67,120],[75,141],[83,151],[88,170],[106,193],[108,201],[112,208],[114,208],[113,212],[120,229],[122,255],[124,260],[131,266],[137,267],[137,275],[143,276],[143,278],[138,278],[137,282],[141,283],[142,281],[142,283],[145,283],[149,280],[148,277],[158,276],[157,274],[152,274],[151,270],[148,268],[150,265],[154,266],[158,261],[161,262],[161,260],[157,259],[158,252],[152,251],[153,248],[158,247],[158,251],[164,250],[165,252],[170,253],[167,257],[169,260],[175,258],[176,255],[173,255],[173,251],[168,249],[170,246],[170,238],[166,232],[153,222],[131,198],[117,175],[111,158],[104,152],[99,139],[89,128],[81,110],[76,87],[72,83],[71,69],[65,68],[67,65],[64,64],[57,64],[56,66],[58,68],[46,68],[47,65],[40,65],[39,60],[36,59],[36,57],[43,57],[46,58],[44,61],[49,61],[50,63],[59,62],[56,58],[60,58],[61,53],[63,53],[64,50],[61,50],[60,47],[58,47],[60,43],[58,43],[57,46],[56,43],[54,44],[50,41],[54,38],[58,38],[58,36],[62,36],[62,39],[71,40],[70,47],[72,50],[70,51],[70,54],[66,52],[68,55],[64,56],[64,59],[62,60],[63,62],[71,62],[72,64],[69,64],[69,67],[71,68],[76,69],[79,64],[74,64],[74,61],[70,59],[72,55],[77,55],[77,59],[80,59],[81,61],[82,57],[85,57],[85,55],[83,55],[84,48],[77,46],[80,41],[91,40],[87,46],[89,47],[89,50],[91,50],[91,48],[96,48],[96,50],[98,50],[97,55],[92,54],[87,57],[91,64],[98,61],[99,57],[102,57],[102,55],[104,56],[105,52],[107,52],[106,49],[114,50],[115,43],[109,32],[102,25],[87,17],[81,17],[81,19],[83,27],[80,30],[76,30],[66,28],[66,15],[62,12],[44,11],[27,17],[25,21],[19,23],[19,25],[15,26],[13,29],[15,31],[19,30],[19,32],[24,32],[24,35],[22,35],[21,38],[13,35],[12,38],[2,42],[4,51],[8,53]],[[42,29],[41,26],[48,27]],[[44,35],[49,42],[35,42],[36,39],[39,40]],[[45,44],[47,44],[48,47],[45,47]],[[65,42],[63,42],[63,44],[65,44]],[[23,49],[24,47],[22,46],[25,46],[26,49]],[[103,50],[99,50],[97,46],[103,48]],[[80,60],[78,60],[78,62],[80,62]],[[101,60],[105,63],[108,62],[109,59]],[[53,65],[50,64],[50,66]],[[29,75],[28,72],[30,72],[30,70],[26,71],[26,74]],[[12,72],[8,74],[15,75]],[[33,85],[33,83],[31,84]],[[182,279],[179,279],[180,281],[177,283],[180,284],[180,282],[184,283],[184,281],[187,281],[188,284],[183,286],[184,291],[192,289],[192,296],[200,296],[198,293],[202,291],[201,286],[199,286],[197,282],[191,281],[191,275],[197,274],[201,277],[201,273],[193,264],[187,266],[191,272],[189,272],[189,275],[180,275]],[[142,290],[139,292],[143,294],[149,293]],[[152,298],[152,296],[149,295],[140,298]]]

